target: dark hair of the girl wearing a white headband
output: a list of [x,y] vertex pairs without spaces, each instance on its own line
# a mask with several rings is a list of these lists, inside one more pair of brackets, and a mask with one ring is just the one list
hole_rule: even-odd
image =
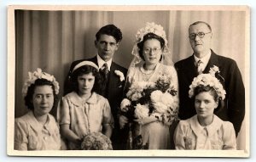
[[78,78],[80,75],[87,75],[92,73],[92,75],[95,76],[95,82],[92,88],[92,92],[97,92],[98,94],[102,92],[102,77],[98,70],[96,68],[90,66],[90,65],[84,65],[79,67],[79,69],[74,70],[72,75],[71,75],[71,82],[72,82],[72,90],[74,92],[79,93],[79,83],[78,83]]

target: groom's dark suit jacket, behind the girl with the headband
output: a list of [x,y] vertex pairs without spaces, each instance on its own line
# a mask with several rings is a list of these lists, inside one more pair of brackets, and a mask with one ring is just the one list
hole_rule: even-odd
[[[97,58],[93,57],[91,59],[80,59],[74,61],[71,66],[70,70],[68,72],[68,75],[70,76],[72,73],[72,70],[76,64],[79,64],[82,61],[91,61],[95,64],[98,65]],[[119,75],[116,75],[114,73],[115,70],[121,71],[124,76],[127,74],[127,70],[120,66],[119,64],[116,64],[112,62],[111,67],[110,67],[110,72],[109,72],[109,77],[108,77],[108,85],[106,88],[107,94],[104,95],[105,98],[108,98],[108,102],[111,107],[111,112],[113,115],[113,120],[114,120],[114,129],[112,133],[111,140],[113,142],[113,148],[114,149],[123,149],[122,143],[120,140],[122,139],[122,135],[120,135],[121,131],[119,130],[119,118],[118,118],[118,109],[121,103],[121,100],[123,98],[123,92],[124,92],[124,87],[125,87],[125,81],[120,81]],[[65,87],[64,87],[64,93],[67,94],[70,92],[68,89],[68,81],[65,81]]]

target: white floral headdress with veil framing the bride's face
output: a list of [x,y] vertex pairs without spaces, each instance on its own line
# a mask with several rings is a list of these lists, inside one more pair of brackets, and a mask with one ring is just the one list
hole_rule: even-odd
[[[132,47],[132,52],[131,52],[131,54],[134,56],[134,60],[133,60],[134,64],[138,64],[142,61],[138,53],[139,48],[137,47],[137,43],[142,42],[143,36],[147,35],[148,33],[154,33],[155,35],[162,37],[165,41],[162,54],[164,57],[167,55],[171,55],[169,47],[167,46],[168,42],[166,39],[166,31],[164,31],[164,28],[161,25],[156,25],[154,22],[151,22],[151,23],[147,22],[146,26],[138,30],[136,34],[136,42]],[[168,57],[165,57],[165,58],[168,59]],[[170,64],[172,64],[172,60],[168,60],[168,64],[169,62]]]

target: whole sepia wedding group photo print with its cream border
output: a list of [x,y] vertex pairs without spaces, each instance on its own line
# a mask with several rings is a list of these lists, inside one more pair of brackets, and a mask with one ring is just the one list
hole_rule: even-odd
[[9,6],[8,154],[248,157],[246,6]]

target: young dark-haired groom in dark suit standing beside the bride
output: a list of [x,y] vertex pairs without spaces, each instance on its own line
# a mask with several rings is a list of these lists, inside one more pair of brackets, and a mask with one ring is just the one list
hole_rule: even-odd
[[[76,64],[84,60],[92,61],[99,66],[100,74],[103,78],[102,96],[108,98],[111,107],[114,128],[111,137],[113,149],[124,149],[122,142],[122,134],[119,129],[118,108],[123,97],[125,81],[121,75],[126,75],[127,70],[113,62],[113,54],[118,50],[119,42],[122,40],[122,32],[115,25],[105,25],[96,33],[95,47],[97,54],[91,59],[80,59],[74,61],[68,73],[71,76],[73,68]],[[65,81],[64,93],[70,92],[68,89],[68,80]]]

